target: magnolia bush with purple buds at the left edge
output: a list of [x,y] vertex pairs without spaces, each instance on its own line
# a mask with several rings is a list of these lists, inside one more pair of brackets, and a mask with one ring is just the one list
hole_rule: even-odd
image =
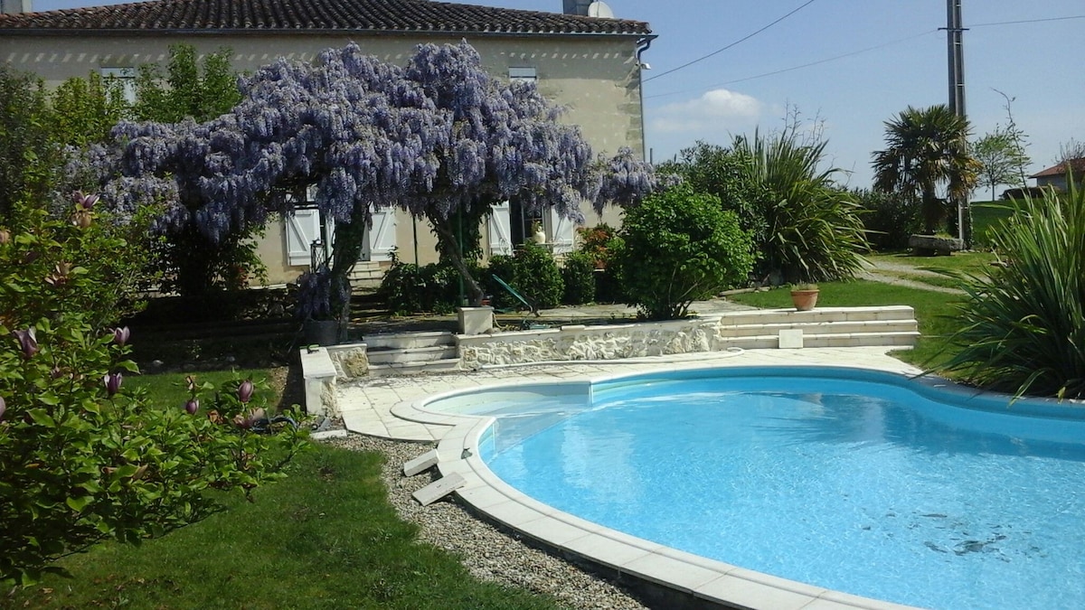
[[138,338],[102,325],[118,309],[93,306],[119,302],[108,262],[129,247],[88,203],[0,228],[0,585],[34,583],[99,541],[200,520],[219,508],[210,491],[247,494],[305,443],[293,428],[254,431],[267,414],[248,380],[205,397],[214,389],[190,379],[170,405],[129,390]]

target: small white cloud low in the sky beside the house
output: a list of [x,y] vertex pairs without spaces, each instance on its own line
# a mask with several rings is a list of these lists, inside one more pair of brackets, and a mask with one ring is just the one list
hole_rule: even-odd
[[762,102],[745,93],[713,89],[694,100],[649,111],[649,123],[658,134],[741,131],[757,123],[763,109]]

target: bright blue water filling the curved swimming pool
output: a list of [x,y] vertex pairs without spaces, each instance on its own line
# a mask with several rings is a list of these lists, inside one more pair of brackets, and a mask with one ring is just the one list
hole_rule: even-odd
[[[1085,607],[1081,407],[847,369],[717,369],[487,401],[510,485],[671,547],[930,608]],[[984,410],[990,409],[990,410]]]

